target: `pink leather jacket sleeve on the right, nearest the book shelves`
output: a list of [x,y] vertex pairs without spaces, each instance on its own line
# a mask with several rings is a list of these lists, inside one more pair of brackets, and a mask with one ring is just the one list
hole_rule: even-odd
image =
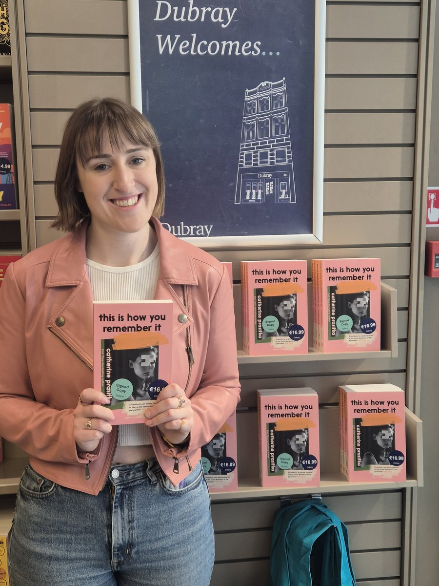
[[218,432],[234,413],[241,390],[232,287],[227,269],[221,267],[222,277],[211,297],[203,376],[190,397],[194,411],[190,450],[207,444]]

